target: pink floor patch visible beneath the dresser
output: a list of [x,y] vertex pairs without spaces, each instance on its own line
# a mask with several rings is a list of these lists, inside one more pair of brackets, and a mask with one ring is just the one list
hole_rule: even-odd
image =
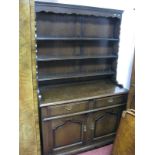
[[99,149],[84,152],[78,155],[111,155],[111,151],[112,151],[112,144],[101,147]]

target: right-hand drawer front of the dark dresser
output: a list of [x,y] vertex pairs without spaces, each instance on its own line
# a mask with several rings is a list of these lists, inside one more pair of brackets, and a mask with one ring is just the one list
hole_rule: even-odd
[[123,104],[127,102],[127,95],[119,95],[119,96],[112,96],[112,97],[105,97],[96,99],[95,108],[100,108],[104,106],[111,106],[116,104]]

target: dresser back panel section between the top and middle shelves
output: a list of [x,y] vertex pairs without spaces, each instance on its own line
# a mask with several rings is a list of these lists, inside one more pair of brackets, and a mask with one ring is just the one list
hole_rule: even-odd
[[41,41],[37,44],[37,58],[62,59],[66,57],[84,59],[87,57],[117,56],[117,42],[102,40],[87,41]]

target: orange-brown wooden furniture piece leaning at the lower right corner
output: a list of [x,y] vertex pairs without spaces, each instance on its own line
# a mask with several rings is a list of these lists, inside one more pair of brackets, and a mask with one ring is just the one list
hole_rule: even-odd
[[135,110],[123,111],[112,155],[135,155]]

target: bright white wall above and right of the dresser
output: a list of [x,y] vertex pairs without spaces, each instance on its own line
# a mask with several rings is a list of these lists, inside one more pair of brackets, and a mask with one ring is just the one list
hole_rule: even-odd
[[121,0],[36,0],[74,5],[86,5],[101,8],[124,10],[121,25],[117,81],[125,88],[130,88],[132,63],[134,55],[134,4],[132,1]]

